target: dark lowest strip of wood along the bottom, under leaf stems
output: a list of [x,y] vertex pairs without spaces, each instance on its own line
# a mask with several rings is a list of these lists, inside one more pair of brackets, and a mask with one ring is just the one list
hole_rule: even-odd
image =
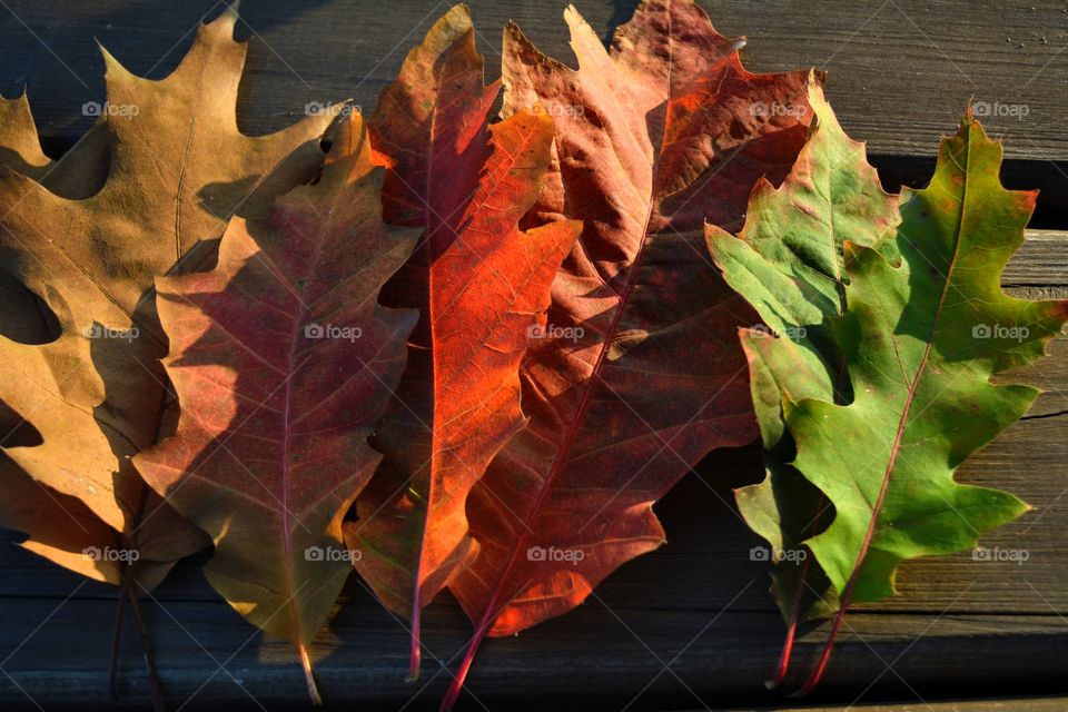
[[[399,709],[415,698],[405,709],[433,709],[448,680],[439,664],[452,660],[469,635],[469,624],[447,603],[426,613],[426,673],[415,685],[404,682],[404,625],[369,599],[342,609],[333,634],[322,635],[312,651],[324,696],[339,708],[359,702],[366,709]],[[781,644],[778,615],[738,607],[635,611],[616,603],[599,596],[566,619],[488,641],[469,679],[477,701],[468,696],[464,709],[479,709],[478,702],[491,710],[622,709],[631,701],[637,710],[782,703],[762,685]],[[221,603],[145,607],[172,709],[190,698],[194,704],[184,709],[251,706],[250,698],[266,709],[306,709],[288,644],[260,640]],[[110,602],[80,599],[0,607],[7,636],[24,641],[4,663],[9,678],[0,678],[0,699],[24,703],[28,695],[48,710],[103,704],[112,614]],[[799,673],[811,664],[823,635],[825,629],[802,636]],[[128,643],[117,709],[144,709],[146,684],[136,646]],[[1068,623],[1059,620],[858,613],[813,702],[929,700],[950,690],[997,694],[1003,692],[998,681],[1009,664],[1013,686],[1051,692],[1061,689],[1066,654]]]

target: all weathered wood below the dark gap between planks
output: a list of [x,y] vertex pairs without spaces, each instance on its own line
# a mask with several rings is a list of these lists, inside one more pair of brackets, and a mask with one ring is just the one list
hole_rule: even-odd
[[[1024,275],[1042,279],[1041,253],[1029,250],[1049,239],[1028,243],[1006,271],[1006,284]],[[1056,287],[1011,291],[1066,296]],[[1027,561],[962,553],[906,564],[900,597],[858,606],[849,616],[817,701],[1068,691],[1068,338],[1021,375],[1047,392],[959,478],[1005,487],[1038,505],[983,540],[990,550],[1026,552]],[[782,704],[761,684],[778,654],[782,622],[764,591],[767,565],[750,556],[760,542],[730,503],[732,487],[760,477],[759,453],[748,447],[713,454],[699,473],[656,507],[666,546],[624,566],[573,613],[484,646],[465,709],[479,709],[479,702],[491,710],[562,711],[594,703],[621,709],[632,702],[629,709],[637,710]],[[180,565],[146,605],[175,709],[186,701],[186,710],[220,703],[301,709],[304,683],[293,651],[263,640],[230,611],[199,563]],[[32,709],[30,699],[47,710],[107,702],[113,595],[18,547],[0,546],[4,709]],[[355,576],[342,604],[313,651],[327,700],[364,710],[434,709],[447,673],[432,660],[423,682],[406,684],[404,624],[377,606]],[[448,596],[428,609],[424,625],[428,649],[442,662],[453,661],[469,635]],[[799,670],[825,631],[805,631]],[[122,660],[120,704],[141,709],[147,689],[132,640]]]

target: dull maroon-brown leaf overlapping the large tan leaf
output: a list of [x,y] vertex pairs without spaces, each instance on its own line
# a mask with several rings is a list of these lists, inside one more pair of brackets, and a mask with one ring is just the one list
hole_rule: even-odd
[[416,316],[377,301],[417,237],[382,221],[380,172],[353,113],[316,185],[235,218],[214,270],[157,279],[181,416],[135,457],[215,540],[216,590],[297,646],[316,701],[307,645],[352,573],[342,518]]

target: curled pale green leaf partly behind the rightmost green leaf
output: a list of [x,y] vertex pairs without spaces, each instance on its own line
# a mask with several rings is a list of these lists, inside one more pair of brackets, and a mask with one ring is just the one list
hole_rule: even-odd
[[740,330],[749,359],[767,477],[736,492],[746,523],[775,553],[772,594],[788,623],[771,683],[782,682],[799,622],[827,617],[834,591],[801,542],[827,528],[833,507],[789,462],[794,445],[782,396],[846,404],[852,395],[843,357],[828,320],[846,310],[846,240],[896,251],[899,222],[868,164],[862,144],[842,131],[820,87],[809,90],[814,128],[797,164],[774,188],[760,180],[738,238],[708,226],[709,248],[726,283],[756,309],[761,323]]

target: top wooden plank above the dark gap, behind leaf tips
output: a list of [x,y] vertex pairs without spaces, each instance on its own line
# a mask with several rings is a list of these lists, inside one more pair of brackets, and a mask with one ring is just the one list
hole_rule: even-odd
[[[491,72],[497,72],[501,28],[510,19],[544,51],[573,65],[562,20],[567,3],[471,0]],[[364,0],[246,2],[239,34],[254,38],[254,44],[241,126],[251,134],[278,129],[310,101],[352,98],[369,110],[447,4],[392,0],[382,11]],[[607,37],[636,2],[578,4]],[[0,90],[11,96],[28,86],[44,134],[79,135],[91,122],[82,103],[102,98],[93,38],[131,70],[159,78],[188,48],[197,21],[219,6],[218,0],[11,0],[0,10]],[[973,97],[980,112],[992,113],[985,123],[1006,139],[1008,157],[1028,161],[1020,176],[1065,197],[1068,93],[1058,88],[1068,81],[1062,51],[1068,13],[1061,1],[970,3],[961,12],[951,0],[824,0],[813,12],[800,0],[725,0],[715,3],[713,20],[721,32],[749,38],[744,51],[754,70],[828,70],[829,96],[842,123],[877,155],[933,156],[939,137],[952,131]]]

